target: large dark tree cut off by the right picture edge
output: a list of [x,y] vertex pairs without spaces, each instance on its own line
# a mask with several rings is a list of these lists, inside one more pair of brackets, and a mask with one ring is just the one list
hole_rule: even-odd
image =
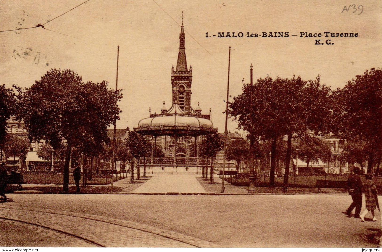
[[335,99],[338,120],[333,131],[342,139],[359,139],[369,146],[367,173],[371,174],[382,150],[382,69],[371,68],[357,75],[336,90]]

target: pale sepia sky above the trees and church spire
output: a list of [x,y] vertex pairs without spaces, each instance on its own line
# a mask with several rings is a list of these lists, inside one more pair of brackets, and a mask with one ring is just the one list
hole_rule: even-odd
[[[84,1],[1,1],[0,31],[44,24]],[[332,89],[382,65],[380,1],[352,6],[322,0],[89,0],[44,24],[46,29],[0,32],[0,84],[31,87],[51,68],[70,68],[83,81],[106,80],[115,88],[119,45],[123,99],[117,128],[133,129],[149,116],[149,108],[160,113],[163,101],[171,106],[171,66],[176,66],[182,11],[187,63],[193,68],[191,106],[200,102],[203,114],[211,108],[219,132],[225,124],[228,47],[232,97],[241,93],[243,78],[249,82],[251,64],[254,81],[293,74],[309,80],[320,74]],[[325,36],[325,31],[359,35],[300,37],[300,32]],[[244,36],[221,38],[218,32]],[[247,32],[259,37],[247,37]],[[283,32],[284,37],[262,37],[262,32]],[[315,45],[315,39],[324,45]],[[327,45],[327,39],[333,44]],[[228,130],[236,128],[229,119]]]

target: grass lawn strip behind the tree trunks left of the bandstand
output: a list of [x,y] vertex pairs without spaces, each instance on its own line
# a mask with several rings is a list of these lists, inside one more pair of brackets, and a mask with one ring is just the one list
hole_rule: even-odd
[[[63,184],[63,174],[52,174],[52,173],[24,173],[24,184]],[[118,181],[121,178],[114,177],[114,181]],[[82,178],[80,183],[82,183]],[[111,183],[111,178],[104,178],[101,176],[93,176],[93,180],[87,180],[88,185],[107,185]],[[73,175],[69,175],[69,184],[75,184],[73,180]]]

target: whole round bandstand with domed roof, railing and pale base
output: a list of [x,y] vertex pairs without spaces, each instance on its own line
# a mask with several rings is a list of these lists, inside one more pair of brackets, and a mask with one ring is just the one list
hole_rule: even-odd
[[[165,113],[152,116],[142,119],[134,128],[151,136],[152,150],[157,148],[157,142],[164,150],[165,157],[141,158],[140,163],[149,168],[148,173],[199,173],[202,166],[210,164],[210,160],[199,157],[199,141],[202,136],[217,131],[212,121],[186,113],[177,103]],[[191,145],[191,141],[195,144]],[[195,148],[196,157],[190,157],[190,145]]]

